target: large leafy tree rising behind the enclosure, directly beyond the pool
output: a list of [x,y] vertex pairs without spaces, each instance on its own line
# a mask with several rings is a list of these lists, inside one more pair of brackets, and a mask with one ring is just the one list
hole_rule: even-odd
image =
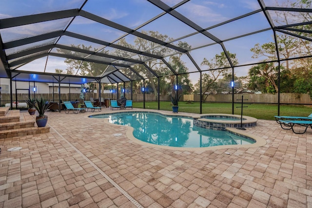
[[[173,38],[169,38],[167,35],[162,35],[156,31],[148,31],[148,32],[142,31],[142,33],[149,35],[153,38],[162,40],[164,42],[171,42],[173,40]],[[167,56],[167,54],[173,53],[173,49],[169,47],[160,46],[159,44],[146,40],[144,38],[137,37],[134,42],[135,42],[135,45],[131,45],[126,42],[125,38],[122,38],[118,41],[118,45],[130,47],[132,49],[136,49],[139,51],[146,51],[147,53],[154,54],[160,57],[165,57]],[[177,43],[177,46],[184,48],[186,50],[191,49],[191,46],[188,43],[182,42],[182,41],[179,41]],[[128,56],[128,57],[132,56],[131,53],[121,51],[121,50],[116,50],[116,55]],[[182,86],[184,86],[184,85],[188,85],[189,83],[191,83],[191,81],[189,79],[189,75],[186,74],[188,72],[188,68],[186,67],[185,63],[181,60],[182,55],[183,55],[182,53],[179,53],[179,54],[171,56],[169,58],[168,63],[171,65],[171,67],[175,70],[177,74],[182,74],[178,76],[178,83],[179,85],[181,84]],[[157,84],[160,85],[160,92],[159,92],[160,94],[166,95],[168,92],[172,92],[171,88],[175,86],[176,80],[175,80],[175,76],[171,76],[173,72],[168,68],[168,66],[165,65],[163,61],[158,60],[158,59],[151,59],[143,55],[138,55],[138,58],[141,61],[145,62],[148,68],[153,70],[153,72],[150,71],[148,68],[146,68],[142,64],[136,64],[132,66],[132,68],[136,70],[141,76],[146,77],[145,86],[151,87],[153,89],[151,90],[151,92],[153,92],[155,96],[158,94]],[[156,73],[157,76],[163,76],[165,78],[160,78],[160,81],[159,81],[160,83],[157,83],[157,79],[155,79],[156,75],[154,75],[154,73]],[[156,96],[156,99],[157,99],[157,96]]]

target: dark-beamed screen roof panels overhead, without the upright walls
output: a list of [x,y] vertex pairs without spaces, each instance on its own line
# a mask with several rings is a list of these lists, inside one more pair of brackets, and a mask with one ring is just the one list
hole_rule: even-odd
[[297,26],[311,28],[305,17],[312,9],[298,2],[2,0],[0,77],[117,83],[179,74],[174,56],[188,72],[204,71],[203,59],[222,52],[229,67],[255,64],[261,60],[251,48],[273,41],[274,33],[311,41],[311,31]]

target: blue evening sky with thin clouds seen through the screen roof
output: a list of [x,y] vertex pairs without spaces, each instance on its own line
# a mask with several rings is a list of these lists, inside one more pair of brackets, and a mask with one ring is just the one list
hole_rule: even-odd
[[[170,7],[175,6],[179,1],[180,0],[163,0],[163,2]],[[285,4],[287,0],[278,1],[278,4],[282,5]],[[0,19],[80,8],[83,2],[84,0],[2,0]],[[264,0],[264,3],[267,6],[276,6],[275,0]],[[260,6],[257,0],[190,0],[176,8],[176,11],[190,19],[199,27],[208,29],[207,31],[211,35],[223,41],[226,50],[236,54],[239,65],[244,65],[256,63],[264,59],[264,57],[258,59],[252,58],[253,53],[250,49],[253,48],[256,43],[261,45],[272,42],[273,32],[264,31],[247,37],[232,40],[228,39],[270,28],[264,14],[259,12],[218,27],[212,26],[253,12],[259,8]],[[205,66],[201,66],[201,62],[204,58],[210,60],[214,58],[216,54],[220,54],[223,51],[220,44],[207,46],[207,44],[211,44],[214,41],[202,34],[182,38],[195,33],[195,29],[185,25],[170,14],[162,15],[163,11],[161,9],[146,0],[89,0],[83,6],[82,10],[139,32],[158,31],[170,38],[187,41],[194,49],[190,52],[191,56],[202,70],[206,69]],[[274,16],[273,13],[272,16]],[[157,17],[155,20],[142,26],[142,24],[155,17]],[[1,29],[0,34],[3,42],[8,42],[20,38],[33,37],[42,33],[62,30],[66,28],[70,20],[71,18],[59,19],[33,25]],[[123,31],[83,17],[76,17],[68,27],[68,31],[107,42],[114,42],[125,35]],[[128,43],[135,45],[135,36],[128,35],[125,38]],[[176,42],[177,41],[174,41],[173,44]],[[79,41],[78,39],[65,36],[61,37],[58,43],[69,46],[70,44],[90,44],[93,49],[103,47],[95,43]],[[14,51],[14,49],[12,50]],[[183,56],[182,60],[189,68],[190,72],[197,71],[194,64],[187,56]],[[45,69],[45,72],[53,73],[55,69],[65,70],[66,67],[67,65],[64,63],[64,58],[49,56],[48,60],[47,58],[40,58],[19,69],[40,72]],[[239,70],[235,71],[236,76],[246,76],[249,68],[250,67],[240,67]],[[191,74],[190,77],[193,83],[198,79],[198,76],[195,74]]]

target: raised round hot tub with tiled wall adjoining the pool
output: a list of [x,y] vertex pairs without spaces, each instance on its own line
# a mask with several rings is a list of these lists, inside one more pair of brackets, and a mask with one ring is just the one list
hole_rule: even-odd
[[[242,123],[242,126],[240,126]],[[257,119],[243,115],[242,121],[240,115],[209,113],[193,117],[193,125],[205,129],[214,129],[225,131],[227,127],[248,128],[257,125]]]

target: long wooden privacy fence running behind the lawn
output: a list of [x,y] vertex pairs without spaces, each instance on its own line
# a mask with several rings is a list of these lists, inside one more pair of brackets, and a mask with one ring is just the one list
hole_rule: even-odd
[[[246,102],[249,103],[277,103],[277,94],[234,94],[234,102],[239,102],[237,99],[241,99],[241,96],[244,95],[244,99],[247,99]],[[63,101],[68,100],[79,100],[80,94],[60,94],[60,98]],[[17,101],[24,102],[28,98],[28,94],[17,94]],[[33,97],[33,95],[31,95]],[[52,94],[36,94],[36,97],[43,97],[46,100],[53,100]],[[70,99],[69,99],[70,97]],[[86,93],[85,94],[85,100],[90,100],[90,97],[98,98],[97,94],[93,93]],[[117,99],[116,94],[102,94],[101,97],[105,99]],[[120,97],[120,96],[119,96]],[[131,99],[131,94],[125,94],[125,97],[127,99]],[[59,94],[54,95],[54,100],[59,100]],[[143,94],[133,94],[132,100],[134,102],[141,102],[143,101]],[[156,95],[150,95],[145,94],[145,101],[156,101]],[[161,101],[170,101],[169,95],[160,95]],[[9,94],[1,94],[1,105],[4,105],[5,103],[9,103],[10,101],[10,95]],[[13,94],[13,101],[16,101],[16,96]],[[200,101],[200,95],[183,95],[180,98],[180,101]],[[226,95],[208,95],[205,102],[232,102],[232,94],[226,94]],[[280,94],[280,103],[281,104],[307,104],[312,105],[312,100],[308,94],[297,94],[297,93],[281,93]]]

